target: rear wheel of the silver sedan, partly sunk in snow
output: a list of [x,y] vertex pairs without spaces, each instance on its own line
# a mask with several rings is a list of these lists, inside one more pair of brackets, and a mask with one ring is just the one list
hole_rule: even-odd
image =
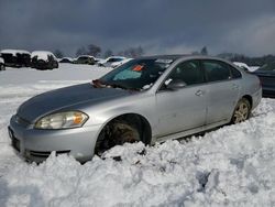
[[240,123],[250,118],[251,103],[246,98],[242,98],[238,101],[233,116],[231,118],[231,123]]

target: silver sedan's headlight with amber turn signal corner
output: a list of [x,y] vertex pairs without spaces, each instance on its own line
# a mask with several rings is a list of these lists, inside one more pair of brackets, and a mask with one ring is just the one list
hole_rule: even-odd
[[35,129],[68,129],[79,128],[88,119],[88,116],[80,111],[67,111],[48,115],[40,119]]

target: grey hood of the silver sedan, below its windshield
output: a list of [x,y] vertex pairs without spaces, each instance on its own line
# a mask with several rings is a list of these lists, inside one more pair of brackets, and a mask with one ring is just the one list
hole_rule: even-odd
[[40,117],[67,107],[84,102],[91,102],[92,105],[92,102],[132,94],[133,91],[116,88],[95,88],[90,84],[81,84],[37,95],[19,107],[18,116],[29,122],[34,122]]

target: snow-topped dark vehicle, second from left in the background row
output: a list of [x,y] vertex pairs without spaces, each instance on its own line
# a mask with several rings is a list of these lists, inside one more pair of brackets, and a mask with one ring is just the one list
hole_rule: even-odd
[[31,66],[36,69],[54,69],[58,68],[58,62],[48,51],[34,51],[31,55]]

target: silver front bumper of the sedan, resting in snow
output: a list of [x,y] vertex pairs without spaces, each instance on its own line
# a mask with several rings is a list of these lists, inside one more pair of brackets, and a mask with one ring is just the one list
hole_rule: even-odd
[[13,116],[8,130],[13,148],[28,161],[42,162],[55,151],[56,154],[66,153],[86,162],[94,155],[100,127],[37,130],[19,123]]

